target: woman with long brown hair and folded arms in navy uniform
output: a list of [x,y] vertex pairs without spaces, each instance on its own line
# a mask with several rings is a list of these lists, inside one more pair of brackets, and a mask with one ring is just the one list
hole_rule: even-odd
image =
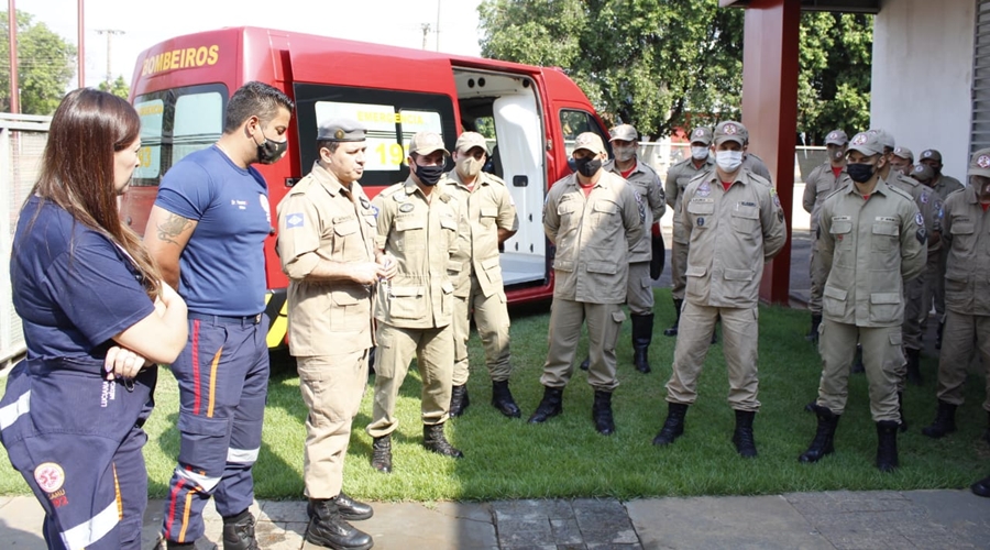
[[123,99],[69,92],[14,235],[10,276],[28,358],[0,399],[0,442],[45,509],[53,549],[140,548],[141,427],[156,363],[186,343],[185,302],[118,213],[140,130]]

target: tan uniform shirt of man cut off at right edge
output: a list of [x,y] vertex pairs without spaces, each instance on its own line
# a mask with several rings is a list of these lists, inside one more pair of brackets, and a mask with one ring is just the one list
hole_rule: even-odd
[[990,316],[990,213],[983,211],[971,186],[949,195],[944,208],[945,307]]

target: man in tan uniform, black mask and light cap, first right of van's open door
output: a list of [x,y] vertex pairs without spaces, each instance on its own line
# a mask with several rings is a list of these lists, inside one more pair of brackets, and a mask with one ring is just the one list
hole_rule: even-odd
[[604,169],[605,144],[598,134],[578,135],[574,147],[578,172],[553,184],[543,205],[543,231],[557,254],[550,349],[540,377],[543,398],[529,422],[543,422],[563,410],[563,388],[574,371],[574,349],[586,321],[587,383],[595,389],[592,418],[595,429],[608,436],[615,431],[615,344],[626,318],[622,304],[629,251],[644,237],[647,208],[631,184]]

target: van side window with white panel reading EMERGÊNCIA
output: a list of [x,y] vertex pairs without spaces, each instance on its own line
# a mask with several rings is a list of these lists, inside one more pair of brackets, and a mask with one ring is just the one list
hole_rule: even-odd
[[294,91],[304,173],[317,160],[319,123],[336,117],[354,119],[367,129],[361,178],[365,187],[388,186],[408,177],[406,155],[417,132],[440,134],[449,150],[458,139],[453,100],[449,96],[314,84],[297,84]]

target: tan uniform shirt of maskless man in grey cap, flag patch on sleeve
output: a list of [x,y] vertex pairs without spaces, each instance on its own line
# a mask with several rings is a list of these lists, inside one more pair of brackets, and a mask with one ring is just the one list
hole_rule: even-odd
[[374,262],[375,215],[356,182],[350,190],[314,163],[278,204],[278,257],[289,277],[289,350],[296,356],[374,345],[372,290],[350,280],[306,280],[320,261]]

